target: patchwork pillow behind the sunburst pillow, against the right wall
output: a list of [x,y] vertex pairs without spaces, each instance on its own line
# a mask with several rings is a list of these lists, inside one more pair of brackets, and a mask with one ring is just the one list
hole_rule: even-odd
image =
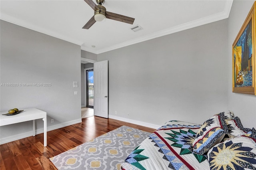
[[228,132],[233,136],[250,136],[252,129],[244,128],[240,119],[235,117],[234,120],[227,121]]

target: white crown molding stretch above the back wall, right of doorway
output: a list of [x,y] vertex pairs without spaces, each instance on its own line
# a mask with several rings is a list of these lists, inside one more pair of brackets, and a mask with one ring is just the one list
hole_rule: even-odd
[[159,32],[148,34],[146,36],[142,36],[140,38],[136,38],[136,39],[133,39],[133,40],[130,40],[130,41],[118,43],[118,44],[112,45],[110,47],[99,49],[99,50],[96,51],[96,54],[104,53],[104,52],[111,51],[111,50],[118,49],[118,48],[122,48],[122,47],[126,47],[128,45],[144,42],[144,41],[151,40],[151,39],[154,39],[154,38],[158,38],[158,37],[161,37],[161,36],[166,36],[168,34],[173,34],[173,33],[176,33],[176,32],[188,30],[190,28],[194,28],[194,27],[197,27],[197,26],[202,26],[204,24],[209,24],[211,22],[224,20],[224,19],[229,17],[230,10],[231,10],[231,7],[232,7],[232,3],[233,3],[233,0],[227,0],[226,4],[225,4],[225,7],[224,7],[224,11],[222,11],[220,13],[217,13],[217,14],[214,14],[214,15],[211,15],[211,16],[207,16],[207,17],[204,17],[204,18],[200,18],[198,20],[194,20],[194,21],[191,21],[191,22],[187,22],[187,23],[181,24],[179,26],[175,26],[175,27],[172,27],[172,28],[161,30]]

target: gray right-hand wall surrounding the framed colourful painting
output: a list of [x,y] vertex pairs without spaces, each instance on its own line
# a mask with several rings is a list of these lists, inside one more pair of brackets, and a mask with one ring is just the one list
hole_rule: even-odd
[[[242,27],[253,0],[234,0],[228,19],[228,108],[240,117],[242,124],[248,128],[256,127],[256,96],[232,93],[232,44]],[[242,9],[242,10],[241,10]]]

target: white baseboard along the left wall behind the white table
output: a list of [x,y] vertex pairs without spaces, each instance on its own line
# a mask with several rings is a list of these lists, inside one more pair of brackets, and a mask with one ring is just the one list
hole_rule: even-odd
[[[74,120],[74,121],[69,121],[69,122],[58,124],[58,125],[53,125],[53,126],[47,127],[47,131],[55,130],[55,129],[66,127],[66,126],[69,126],[69,125],[74,125],[76,123],[81,123],[81,122],[82,122],[82,119],[77,119],[77,120]],[[36,130],[36,134],[40,134],[40,133],[43,133],[43,132],[44,132],[44,128],[40,128],[40,129]],[[19,140],[19,139],[22,139],[22,138],[27,138],[27,137],[32,136],[32,135],[33,135],[33,131],[29,131],[29,132],[26,132],[26,133],[15,135],[15,136],[2,138],[2,139],[0,139],[0,144],[12,142],[14,140]]]

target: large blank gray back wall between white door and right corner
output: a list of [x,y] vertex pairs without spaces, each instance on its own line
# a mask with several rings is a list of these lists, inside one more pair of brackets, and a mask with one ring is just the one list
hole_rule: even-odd
[[109,60],[109,115],[162,125],[227,111],[227,23],[98,54]]

